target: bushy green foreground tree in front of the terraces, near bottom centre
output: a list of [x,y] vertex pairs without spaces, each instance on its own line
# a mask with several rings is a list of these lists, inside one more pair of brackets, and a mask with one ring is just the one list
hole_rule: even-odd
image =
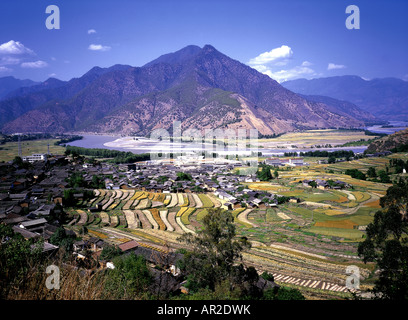
[[203,228],[196,235],[184,234],[179,239],[191,247],[179,267],[187,274],[187,287],[214,291],[229,281],[233,291],[243,285],[242,279],[253,278],[253,270],[243,267],[242,251],[250,248],[246,238],[236,239],[234,218],[221,208],[209,209],[202,220]]

